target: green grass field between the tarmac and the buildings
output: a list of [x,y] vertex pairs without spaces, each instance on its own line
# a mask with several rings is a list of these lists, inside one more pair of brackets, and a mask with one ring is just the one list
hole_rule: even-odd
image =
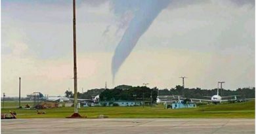
[[[9,105],[12,105],[11,102]],[[18,118],[66,118],[74,112],[73,107],[43,109],[46,114],[37,114],[36,110],[4,108],[1,112],[15,111]],[[100,114],[108,118],[255,118],[255,101],[219,105],[202,105],[190,109],[164,109],[156,107],[82,107],[79,114],[87,118],[96,118]]]

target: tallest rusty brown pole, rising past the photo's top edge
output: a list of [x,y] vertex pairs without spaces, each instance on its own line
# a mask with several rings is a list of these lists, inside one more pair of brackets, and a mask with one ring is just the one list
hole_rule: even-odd
[[77,109],[77,66],[76,66],[76,35],[75,35],[75,0],[73,0],[73,47],[74,47],[74,112],[78,113]]

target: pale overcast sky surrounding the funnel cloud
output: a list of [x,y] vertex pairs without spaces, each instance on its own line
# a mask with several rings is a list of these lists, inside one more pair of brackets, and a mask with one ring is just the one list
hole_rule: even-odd
[[[255,2],[171,1],[140,37],[112,82],[111,63],[146,1],[77,0],[77,77],[83,88],[255,86]],[[1,1],[1,93],[74,90],[72,1]]]

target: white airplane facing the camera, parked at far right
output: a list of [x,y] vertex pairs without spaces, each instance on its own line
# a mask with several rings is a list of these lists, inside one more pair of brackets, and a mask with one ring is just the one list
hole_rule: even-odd
[[223,99],[223,98],[230,98],[232,96],[225,96],[225,97],[221,97],[219,95],[219,88],[217,89],[217,95],[213,95],[212,97],[210,96],[204,96],[204,97],[209,97],[211,99],[190,99],[191,101],[207,101],[207,102],[212,102],[212,103],[221,103],[221,102],[224,102],[224,101],[236,101],[236,95],[234,95],[234,99]]

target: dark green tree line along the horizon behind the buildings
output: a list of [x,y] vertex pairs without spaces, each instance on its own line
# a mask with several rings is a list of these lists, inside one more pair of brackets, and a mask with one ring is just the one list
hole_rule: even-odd
[[[84,93],[77,93],[77,97],[80,99],[91,99],[93,96],[100,95],[100,101],[117,101],[117,100],[129,100],[129,101],[152,101],[156,102],[158,95],[182,95],[182,86],[176,86],[171,89],[159,90],[158,88],[148,88],[146,86],[128,86],[120,85],[113,89],[93,89],[87,90]],[[217,89],[205,90],[201,88],[184,88],[184,97],[186,98],[198,98],[203,99],[203,96],[212,96],[217,94]],[[71,91],[66,91],[66,97],[74,97]],[[255,98],[255,87],[253,88],[238,88],[236,90],[224,90],[219,89],[219,95],[230,96],[238,95],[238,98]]]

